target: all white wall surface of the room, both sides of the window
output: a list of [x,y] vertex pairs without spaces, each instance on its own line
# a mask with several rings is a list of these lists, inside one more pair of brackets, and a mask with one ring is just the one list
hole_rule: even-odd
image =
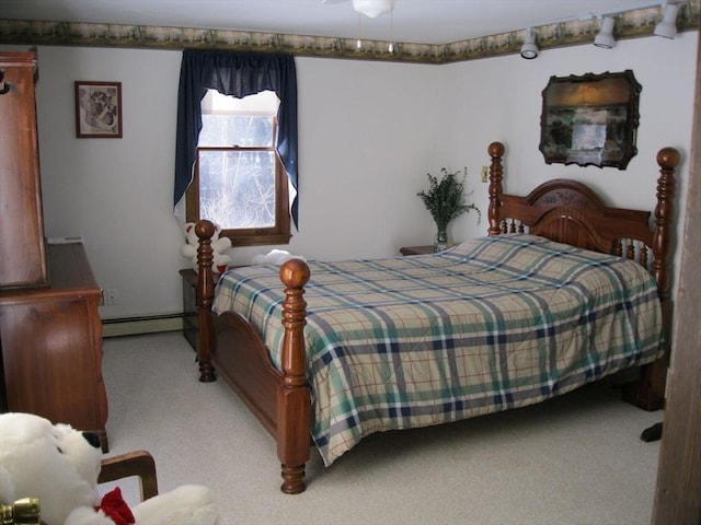
[[[583,179],[617,206],[654,206],[655,154],[689,151],[697,32],[448,66],[298,58],[300,230],[286,248],[312,258],[393,256],[429,244],[434,226],[416,191],[426,173],[467,166],[470,198],[486,213],[480,166],[507,147],[508,191],[554,176]],[[2,48],[2,46],[0,46]],[[5,49],[19,49],[4,47]],[[117,289],[104,318],[181,310],[183,242],[172,213],[179,51],[39,48],[37,109],[47,236],[82,235],[95,277]],[[541,91],[550,75],[632,69],[643,85],[639,155],[629,168],[547,166],[538,151]],[[123,83],[124,138],[77,139],[74,80]],[[686,191],[686,155],[678,191]],[[677,207],[680,210],[681,202]],[[481,235],[474,213],[455,240]],[[268,247],[238,248],[246,262]]]

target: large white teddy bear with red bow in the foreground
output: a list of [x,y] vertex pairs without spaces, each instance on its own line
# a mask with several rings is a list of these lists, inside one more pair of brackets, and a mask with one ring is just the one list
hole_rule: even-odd
[[46,525],[215,525],[208,488],[181,486],[129,509],[119,488],[100,500],[96,434],[22,412],[0,415],[0,503],[39,499]]

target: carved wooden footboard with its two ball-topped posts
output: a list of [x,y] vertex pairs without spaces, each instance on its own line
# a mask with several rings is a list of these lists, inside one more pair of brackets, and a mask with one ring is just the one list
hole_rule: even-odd
[[307,383],[303,328],[307,304],[302,298],[309,281],[307,264],[291,259],[280,268],[285,285],[283,300],[281,372],[271,363],[260,336],[239,314],[211,312],[214,276],[211,236],[215,226],[198,221],[197,310],[199,319],[199,381],[211,382],[219,374],[277,441],[283,485],[296,494],[304,490],[304,465],[310,456],[311,399]]

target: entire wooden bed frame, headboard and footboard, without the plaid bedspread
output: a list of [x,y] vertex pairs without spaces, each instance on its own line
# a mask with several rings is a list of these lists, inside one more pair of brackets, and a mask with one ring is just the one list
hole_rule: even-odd
[[[609,208],[585,185],[566,179],[543,183],[526,197],[503,192],[504,144],[490,144],[489,234],[528,232],[556,242],[627,256],[645,266],[654,276],[663,302],[667,341],[671,326],[669,298],[669,237],[674,212],[674,172],[679,153],[664,148],[657,154],[660,175],[654,226],[650,212]],[[199,320],[199,381],[211,382],[217,374],[239,394],[251,411],[277,440],[281,465],[280,490],[295,494],[304,490],[304,466],[310,457],[311,404],[307,382],[303,341],[306,302],[303,287],[310,279],[307,264],[285,262],[279,270],[285,285],[283,325],[285,336],[281,371],[276,370],[260,336],[239,314],[211,312],[215,278],[211,236],[215,225],[198,221],[197,307]],[[652,260],[648,257],[652,250]],[[623,390],[625,400],[647,410],[664,404],[669,345],[660,360],[646,365],[641,378]],[[216,373],[215,373],[216,371]]]

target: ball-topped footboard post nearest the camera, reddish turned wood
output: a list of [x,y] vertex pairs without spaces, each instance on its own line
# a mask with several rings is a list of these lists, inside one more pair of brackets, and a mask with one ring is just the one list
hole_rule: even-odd
[[277,390],[277,456],[281,463],[280,490],[297,494],[304,490],[304,464],[309,460],[311,398],[307,384],[303,329],[307,303],[302,294],[309,282],[307,262],[290,259],[280,267],[285,284],[283,301],[283,382]]

